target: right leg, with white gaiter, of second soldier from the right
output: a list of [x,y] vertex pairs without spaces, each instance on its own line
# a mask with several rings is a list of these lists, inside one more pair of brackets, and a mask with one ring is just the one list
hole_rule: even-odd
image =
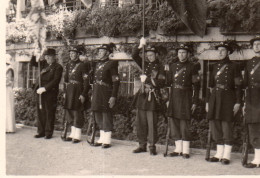
[[222,164],[229,164],[233,142],[232,122],[222,121],[222,133],[224,139],[224,154]]

